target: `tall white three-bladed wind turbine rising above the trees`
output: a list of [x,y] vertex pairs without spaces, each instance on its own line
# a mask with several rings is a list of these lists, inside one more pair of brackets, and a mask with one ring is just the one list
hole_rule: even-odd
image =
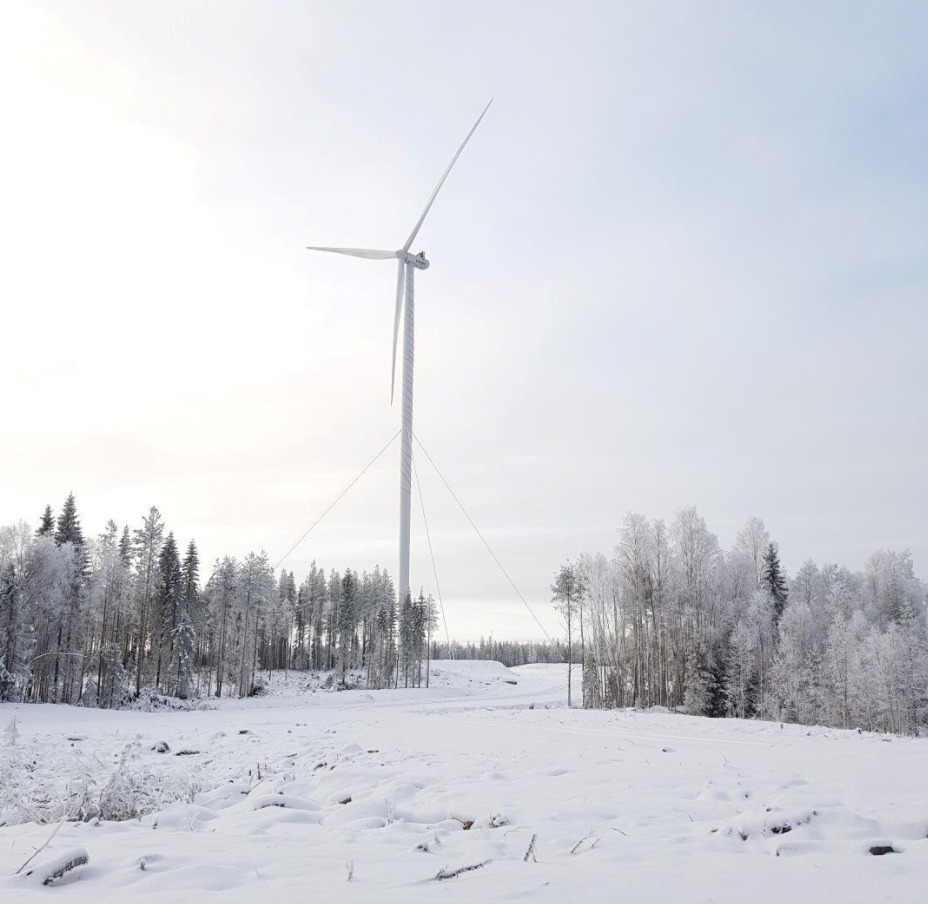
[[413,359],[415,354],[415,307],[414,307],[414,283],[416,270],[427,270],[429,262],[425,258],[425,252],[420,251],[418,254],[410,254],[409,249],[416,240],[419,230],[425,222],[426,216],[435,202],[438,192],[445,179],[451,172],[451,168],[457,162],[461,152],[470,141],[471,135],[477,130],[480,121],[490,109],[493,103],[492,98],[483,108],[483,113],[477,118],[471,130],[467,133],[457,153],[451,158],[448,168],[442,173],[441,179],[432,191],[432,195],[425,205],[425,210],[419,217],[416,225],[413,227],[409,238],[406,239],[403,247],[398,251],[377,251],[370,248],[320,248],[309,247],[309,251],[330,251],[334,254],[347,254],[349,257],[363,257],[367,260],[392,260],[396,258],[396,311],[393,317],[393,363],[390,368],[390,404],[393,404],[393,394],[396,385],[396,348],[399,340],[400,330],[400,313],[403,312],[404,282],[405,282],[405,316],[403,318],[403,409],[402,409],[402,430],[400,445],[400,585],[399,585],[399,603],[403,604],[406,594],[409,592],[409,509],[412,500],[412,384],[413,384]]

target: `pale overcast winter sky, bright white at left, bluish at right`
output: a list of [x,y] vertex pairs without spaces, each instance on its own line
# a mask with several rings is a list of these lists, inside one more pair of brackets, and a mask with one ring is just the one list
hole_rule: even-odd
[[[928,572],[922,3],[0,5],[0,523],[279,558],[415,429],[549,631],[624,514]],[[287,560],[396,571],[394,445]],[[420,462],[451,633],[538,627]],[[412,583],[433,589],[418,500]],[[208,569],[205,569],[208,570]]]

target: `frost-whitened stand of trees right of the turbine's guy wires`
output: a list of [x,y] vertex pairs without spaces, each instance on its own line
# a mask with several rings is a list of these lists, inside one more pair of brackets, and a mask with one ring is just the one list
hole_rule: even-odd
[[908,551],[790,579],[764,522],[724,550],[695,508],[629,514],[614,554],[552,585],[585,707],[666,706],[917,734],[928,727],[926,585]]

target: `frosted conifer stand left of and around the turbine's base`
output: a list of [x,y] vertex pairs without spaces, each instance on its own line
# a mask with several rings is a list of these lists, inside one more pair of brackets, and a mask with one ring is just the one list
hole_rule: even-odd
[[118,707],[143,689],[245,696],[261,670],[328,670],[371,688],[428,683],[431,596],[397,605],[390,575],[313,562],[297,585],[267,554],[218,559],[200,584],[152,506],[85,538],[73,494],[37,530],[0,527],[0,700]]

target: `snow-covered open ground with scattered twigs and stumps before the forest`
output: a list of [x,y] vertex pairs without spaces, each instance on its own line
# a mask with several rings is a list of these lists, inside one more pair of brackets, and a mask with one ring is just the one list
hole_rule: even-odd
[[[563,666],[439,662],[430,683],[274,676],[195,712],[0,705],[19,734],[0,736],[0,800],[154,811],[65,822],[15,878],[54,825],[0,827],[0,901],[924,899],[928,741],[568,710]],[[78,849],[88,864],[43,888]]]

